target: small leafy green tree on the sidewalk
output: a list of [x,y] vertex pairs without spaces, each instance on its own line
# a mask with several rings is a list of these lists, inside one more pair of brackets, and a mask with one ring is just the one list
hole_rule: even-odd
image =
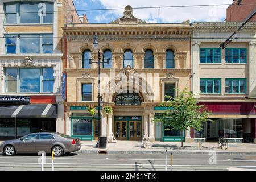
[[178,96],[175,98],[166,96],[167,101],[161,105],[166,106],[167,110],[155,117],[155,122],[162,122],[164,126],[168,126],[166,130],[181,131],[181,147],[183,147],[183,131],[191,128],[200,131],[201,124],[211,120],[208,118],[210,111],[207,111],[204,105],[199,105],[191,92],[187,89],[177,92]]

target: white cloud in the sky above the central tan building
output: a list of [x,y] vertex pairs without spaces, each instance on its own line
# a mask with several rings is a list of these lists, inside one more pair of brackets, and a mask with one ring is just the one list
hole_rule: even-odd
[[[181,5],[215,5],[215,4],[231,4],[233,0],[90,0],[99,1],[106,8],[122,8],[126,5],[132,7],[152,7],[152,6],[181,6]],[[157,22],[158,19],[162,22],[183,22],[190,19],[194,21],[222,21],[226,17],[226,8],[228,6],[204,6],[204,7],[175,7],[160,9],[134,9],[134,16],[146,20],[148,23]],[[113,13],[115,16],[122,16],[123,10],[112,10],[111,14],[102,12],[105,15],[97,16],[97,21],[102,19],[113,20]]]

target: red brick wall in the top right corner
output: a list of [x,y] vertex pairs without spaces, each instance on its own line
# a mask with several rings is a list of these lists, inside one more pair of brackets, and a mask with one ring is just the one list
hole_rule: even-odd
[[[226,11],[227,22],[243,22],[256,9],[255,0],[242,0],[242,5],[236,4],[237,0],[228,7]],[[255,22],[256,16],[253,16],[250,21]]]

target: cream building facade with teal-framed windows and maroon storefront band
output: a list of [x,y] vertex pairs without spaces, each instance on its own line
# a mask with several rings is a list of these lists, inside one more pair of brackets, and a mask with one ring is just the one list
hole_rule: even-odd
[[192,36],[192,90],[212,111],[202,131],[191,137],[256,142],[256,23],[249,22],[224,49],[220,44],[240,22],[195,22]]

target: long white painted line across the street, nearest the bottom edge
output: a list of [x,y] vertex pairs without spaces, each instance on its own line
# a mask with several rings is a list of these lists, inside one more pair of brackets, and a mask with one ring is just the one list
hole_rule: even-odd
[[[38,163],[0,163],[0,164],[37,164]],[[51,163],[46,163],[46,165],[51,165]],[[55,163],[55,165],[73,165],[73,166],[152,166],[152,164],[91,164],[91,163]],[[153,164],[153,166],[166,166],[165,164]],[[171,166],[171,165],[168,165]],[[256,166],[236,166],[236,165],[172,165],[177,167],[255,167]]]

